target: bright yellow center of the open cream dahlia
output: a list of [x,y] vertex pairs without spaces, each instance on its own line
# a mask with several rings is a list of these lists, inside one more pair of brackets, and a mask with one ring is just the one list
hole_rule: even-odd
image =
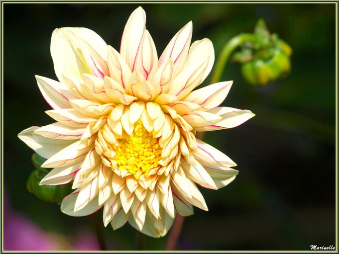
[[118,142],[119,146],[114,148],[114,160],[119,169],[128,170],[139,179],[142,173],[147,176],[150,169],[159,167],[161,148],[158,138],[153,138],[152,133],[147,132],[140,120],[135,123],[132,136],[124,133]]

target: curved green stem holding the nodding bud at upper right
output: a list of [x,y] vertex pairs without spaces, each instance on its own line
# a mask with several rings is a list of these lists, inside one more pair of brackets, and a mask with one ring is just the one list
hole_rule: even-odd
[[215,84],[220,81],[227,60],[229,56],[232,54],[232,52],[244,42],[254,42],[255,40],[256,40],[255,35],[251,33],[240,33],[234,36],[232,39],[230,39],[224,46],[222,52],[220,53],[220,56],[218,58],[216,67],[212,75],[211,84]]

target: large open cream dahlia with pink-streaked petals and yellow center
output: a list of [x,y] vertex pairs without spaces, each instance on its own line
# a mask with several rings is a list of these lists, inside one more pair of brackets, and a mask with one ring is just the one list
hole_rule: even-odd
[[52,34],[51,55],[59,82],[36,76],[56,120],[30,127],[19,138],[53,168],[40,184],[73,181],[61,211],[85,216],[104,207],[105,226],[129,222],[164,236],[176,214],[208,210],[196,184],[218,189],[231,182],[236,164],[195,138],[196,131],[233,128],[254,114],[219,107],[232,82],[192,91],[209,75],[209,39],[191,46],[192,22],[158,59],[138,7],[124,28],[120,53],[94,31],[64,27]]

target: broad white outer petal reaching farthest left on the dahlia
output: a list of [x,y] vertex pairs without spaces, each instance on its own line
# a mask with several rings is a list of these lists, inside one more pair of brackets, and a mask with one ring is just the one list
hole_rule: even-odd
[[57,140],[37,135],[34,131],[38,129],[37,126],[29,127],[21,131],[18,138],[43,158],[48,159],[74,143],[74,140]]

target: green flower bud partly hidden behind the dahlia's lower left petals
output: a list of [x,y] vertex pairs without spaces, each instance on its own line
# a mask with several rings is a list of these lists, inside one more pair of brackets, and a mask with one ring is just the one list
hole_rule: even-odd
[[32,163],[37,169],[28,176],[26,183],[27,190],[44,201],[61,203],[63,198],[72,192],[72,185],[39,185],[41,179],[50,171],[50,169],[40,168],[44,161],[46,159],[33,154]]

